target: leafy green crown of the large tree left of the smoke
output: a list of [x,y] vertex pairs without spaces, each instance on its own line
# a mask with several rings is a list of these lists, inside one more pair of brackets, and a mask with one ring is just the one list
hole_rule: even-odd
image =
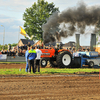
[[54,12],[59,11],[54,3],[48,3],[45,0],[38,0],[31,7],[26,8],[23,14],[25,31],[34,40],[42,38],[42,25],[47,22],[47,18]]

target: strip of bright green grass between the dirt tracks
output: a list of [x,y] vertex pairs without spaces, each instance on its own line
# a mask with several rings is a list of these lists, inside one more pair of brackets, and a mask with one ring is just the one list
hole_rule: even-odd
[[[76,68],[76,69],[68,69],[68,68],[64,68],[64,69],[60,69],[60,68],[41,68],[40,69],[40,73],[36,72],[35,74],[74,74],[74,73],[94,73],[94,72],[98,72],[99,73],[99,69],[94,69],[94,68]],[[27,72],[25,72],[25,69],[0,69],[0,75],[18,75],[18,74],[29,74]],[[33,74],[33,73],[31,73]]]

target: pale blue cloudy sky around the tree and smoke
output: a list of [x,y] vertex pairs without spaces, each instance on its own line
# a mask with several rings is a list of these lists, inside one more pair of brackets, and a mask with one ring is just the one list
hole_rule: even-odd
[[[56,7],[59,7],[60,12],[70,7],[77,5],[79,0],[46,0],[49,3],[54,2]],[[88,6],[99,5],[99,0],[83,0]],[[20,28],[23,27],[23,13],[25,9],[31,7],[37,0],[0,0],[0,44],[3,44],[3,34],[5,28],[4,44],[18,43],[19,39],[24,36],[19,34]],[[3,25],[4,27],[2,27]],[[90,34],[81,35],[80,44],[90,45]],[[62,39],[63,43],[75,41],[75,35]]]

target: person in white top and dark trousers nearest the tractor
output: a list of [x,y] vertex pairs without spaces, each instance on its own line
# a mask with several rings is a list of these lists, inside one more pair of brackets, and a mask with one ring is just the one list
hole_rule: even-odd
[[41,59],[42,51],[40,50],[39,46],[35,47],[35,51],[37,53],[37,57],[35,59],[35,71],[38,68],[38,72],[40,72],[40,59]]

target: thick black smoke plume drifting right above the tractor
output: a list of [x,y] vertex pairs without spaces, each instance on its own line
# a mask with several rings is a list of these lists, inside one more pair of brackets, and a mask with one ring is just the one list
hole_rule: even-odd
[[[62,27],[59,28],[61,23]],[[50,16],[47,23],[42,26],[44,44],[60,41],[61,37],[72,36],[76,31],[84,34],[86,26],[95,26],[95,30],[98,30],[99,24],[100,6],[88,7],[84,2],[79,2],[76,7],[61,13],[55,12]]]

